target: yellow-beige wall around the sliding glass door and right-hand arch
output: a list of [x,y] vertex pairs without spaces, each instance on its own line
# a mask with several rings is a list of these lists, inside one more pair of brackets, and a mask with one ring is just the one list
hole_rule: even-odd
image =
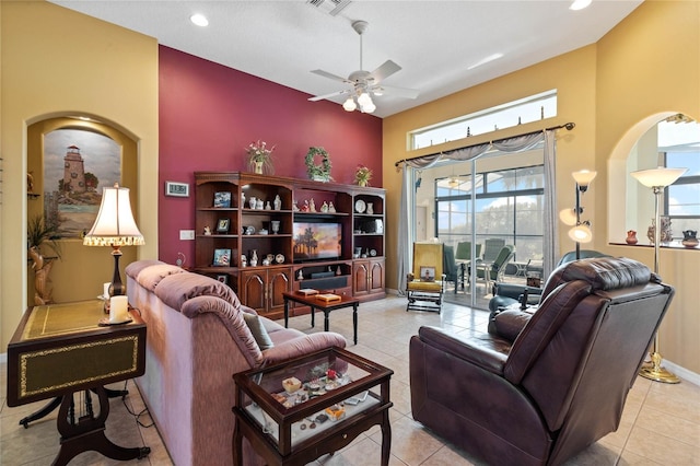
[[[626,218],[620,199],[625,199],[629,175],[626,168],[616,172],[619,164],[616,159],[625,165],[637,138],[664,115],[684,113],[700,118],[699,10],[700,2],[695,1],[648,0],[597,44],[386,118],[387,287],[397,287],[396,238],[401,178],[394,162],[565,121],[574,121],[576,127],[573,131],[559,130],[557,209],[573,206],[571,172],[597,170],[598,178],[591,188],[593,196],[586,198],[586,218],[592,221],[594,231],[590,247],[632,257],[651,266],[651,247],[609,244],[625,237],[623,231],[615,237],[608,235],[608,218],[619,217],[622,222]],[[407,132],[412,129],[553,88],[559,95],[556,118],[432,149],[406,150]],[[622,225],[623,229],[625,223]],[[562,252],[572,248],[564,229],[560,229],[559,240]],[[700,313],[696,311],[700,302],[699,265],[700,251],[662,251],[661,275],[676,287],[677,294],[660,331],[661,352],[666,360],[696,374],[700,373]]]

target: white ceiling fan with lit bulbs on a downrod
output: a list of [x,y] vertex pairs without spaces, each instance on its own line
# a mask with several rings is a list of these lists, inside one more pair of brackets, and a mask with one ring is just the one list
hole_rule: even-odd
[[416,98],[418,91],[415,89],[396,88],[381,84],[383,80],[399,71],[401,67],[392,60],[386,60],[380,68],[369,72],[362,69],[362,34],[368,30],[366,21],[353,21],[352,28],[360,35],[360,70],[353,71],[348,78],[341,78],[337,74],[329,73],[324,70],[313,70],[312,73],[329,78],[334,81],[340,81],[349,84],[350,88],[342,91],[332,92],[330,94],[317,95],[310,97],[312,102],[322,101],[324,98],[335,97],[337,95],[348,95],[342,107],[348,112],[353,112],[358,107],[360,112],[371,114],[376,109],[372,95],[396,95],[398,97]]

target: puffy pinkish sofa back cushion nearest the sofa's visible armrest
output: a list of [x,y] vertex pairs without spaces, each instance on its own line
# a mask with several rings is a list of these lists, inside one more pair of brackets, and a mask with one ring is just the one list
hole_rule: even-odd
[[238,296],[229,286],[199,273],[175,273],[164,277],[153,292],[165,304],[180,312],[187,300],[202,295],[218,296],[235,308],[241,307]]

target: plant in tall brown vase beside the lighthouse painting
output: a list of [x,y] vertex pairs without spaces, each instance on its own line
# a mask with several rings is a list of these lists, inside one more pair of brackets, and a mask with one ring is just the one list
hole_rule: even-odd
[[44,221],[43,215],[35,215],[27,222],[26,245],[32,268],[34,269],[34,304],[44,305],[51,302],[51,293],[47,289],[48,275],[54,266],[54,257],[44,257],[42,246],[48,247],[57,258],[61,257],[60,243],[56,241],[58,229]]

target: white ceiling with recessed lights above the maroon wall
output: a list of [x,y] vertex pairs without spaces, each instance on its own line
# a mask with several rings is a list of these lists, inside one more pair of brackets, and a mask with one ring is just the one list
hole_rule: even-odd
[[[355,0],[334,16],[305,0],[51,1],[310,96],[345,89],[311,70],[345,78],[360,69],[360,36],[351,23],[366,21],[362,68],[372,71],[390,59],[402,70],[384,84],[420,91],[416,100],[375,97],[378,117],[595,43],[642,3],[594,0],[572,11],[570,0]],[[209,26],[191,24],[194,13],[207,15]],[[469,70],[493,54],[503,58]]]

